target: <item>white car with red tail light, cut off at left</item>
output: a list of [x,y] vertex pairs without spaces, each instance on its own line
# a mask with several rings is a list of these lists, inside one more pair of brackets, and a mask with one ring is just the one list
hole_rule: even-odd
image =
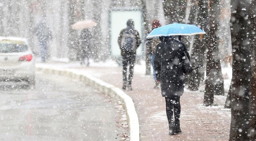
[[35,85],[35,58],[25,38],[0,36],[0,82],[27,81]]

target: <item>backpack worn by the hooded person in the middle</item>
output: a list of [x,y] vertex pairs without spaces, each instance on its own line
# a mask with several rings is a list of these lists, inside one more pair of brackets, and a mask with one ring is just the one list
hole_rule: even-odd
[[124,51],[133,52],[135,51],[136,38],[132,29],[126,30],[122,36],[121,47]]

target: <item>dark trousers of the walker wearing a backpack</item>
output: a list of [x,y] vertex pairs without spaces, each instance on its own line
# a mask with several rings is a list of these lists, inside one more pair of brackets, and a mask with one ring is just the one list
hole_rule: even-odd
[[134,65],[135,65],[136,53],[134,52],[124,52],[122,54],[122,76],[123,83],[127,83],[127,68],[129,65],[129,77],[128,77],[128,85],[132,84],[132,78],[134,76]]

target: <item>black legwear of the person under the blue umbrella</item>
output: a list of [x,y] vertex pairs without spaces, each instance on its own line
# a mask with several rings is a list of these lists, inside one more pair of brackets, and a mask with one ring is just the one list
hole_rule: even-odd
[[180,96],[165,97],[165,104],[169,125],[180,124]]

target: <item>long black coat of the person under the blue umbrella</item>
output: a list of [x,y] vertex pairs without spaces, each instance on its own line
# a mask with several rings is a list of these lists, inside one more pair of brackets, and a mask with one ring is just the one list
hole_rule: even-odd
[[182,96],[184,92],[185,74],[182,57],[189,53],[182,42],[174,38],[161,38],[156,47],[154,60],[157,80],[161,81],[161,94],[163,97]]

